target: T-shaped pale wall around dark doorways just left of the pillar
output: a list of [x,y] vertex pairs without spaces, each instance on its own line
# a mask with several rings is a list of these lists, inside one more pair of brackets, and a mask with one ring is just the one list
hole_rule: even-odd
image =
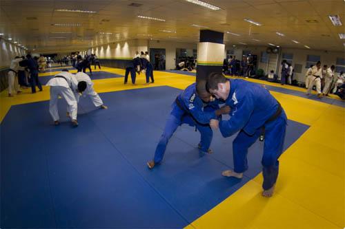
[[[176,41],[155,41],[150,40],[150,48],[166,50],[166,69],[175,69],[176,49],[196,50],[197,43],[182,43]],[[193,56],[193,53],[190,55]]]

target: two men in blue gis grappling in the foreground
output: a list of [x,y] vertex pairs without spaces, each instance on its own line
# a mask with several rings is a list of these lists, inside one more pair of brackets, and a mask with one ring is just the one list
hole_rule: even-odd
[[[219,108],[220,104],[224,106]],[[223,114],[229,114],[230,119],[222,120]],[[223,171],[222,175],[242,179],[248,169],[248,148],[264,133],[262,195],[270,197],[277,181],[286,123],[284,109],[266,88],[212,73],[206,82],[200,80],[188,86],[172,103],[155,155],[147,166],[152,169],[161,164],[168,141],[177,127],[188,124],[201,134],[197,146],[201,153],[213,153],[209,147],[214,130],[219,129],[224,138],[237,133],[233,141],[234,169]]]

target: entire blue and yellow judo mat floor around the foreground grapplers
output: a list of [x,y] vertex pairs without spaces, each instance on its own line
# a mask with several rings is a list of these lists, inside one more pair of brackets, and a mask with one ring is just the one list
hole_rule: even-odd
[[77,128],[63,100],[61,125],[52,125],[48,87],[12,98],[1,92],[1,228],[344,228],[342,107],[288,87],[270,91],[289,120],[275,195],[267,199],[263,143],[250,148],[243,179],[222,177],[233,166],[235,136],[219,131],[215,153],[204,155],[199,133],[179,127],[163,163],[148,170],[170,105],[195,78],[155,72],[154,84],[137,80],[94,80],[109,109],[81,98]]

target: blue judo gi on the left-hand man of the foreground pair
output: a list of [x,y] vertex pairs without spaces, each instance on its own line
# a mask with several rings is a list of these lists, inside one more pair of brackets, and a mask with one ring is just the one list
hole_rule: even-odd
[[[204,107],[204,102],[196,94],[196,83],[189,85],[179,96],[177,100],[172,103],[172,111],[166,122],[164,132],[159,139],[155,151],[155,164],[161,162],[166,151],[166,145],[172,134],[175,133],[177,127],[181,124],[189,124],[191,127],[196,127],[201,133],[201,140],[199,143],[200,151],[207,152],[210,147],[213,131],[210,129],[209,122],[215,119],[215,111],[219,109],[217,102],[209,102]],[[177,104],[177,102],[179,104]],[[203,110],[204,108],[204,110]]]

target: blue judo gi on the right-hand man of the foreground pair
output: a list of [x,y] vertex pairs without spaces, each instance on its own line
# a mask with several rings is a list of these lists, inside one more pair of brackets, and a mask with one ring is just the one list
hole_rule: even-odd
[[[267,89],[245,80],[230,80],[230,94],[226,105],[231,108],[230,120],[220,121],[219,130],[224,138],[239,131],[233,141],[236,173],[244,173],[248,169],[248,148],[259,138],[262,128],[265,129],[262,171],[263,188],[268,190],[277,181],[278,158],[283,152],[287,122],[284,109]],[[279,108],[280,114],[277,112]]]

